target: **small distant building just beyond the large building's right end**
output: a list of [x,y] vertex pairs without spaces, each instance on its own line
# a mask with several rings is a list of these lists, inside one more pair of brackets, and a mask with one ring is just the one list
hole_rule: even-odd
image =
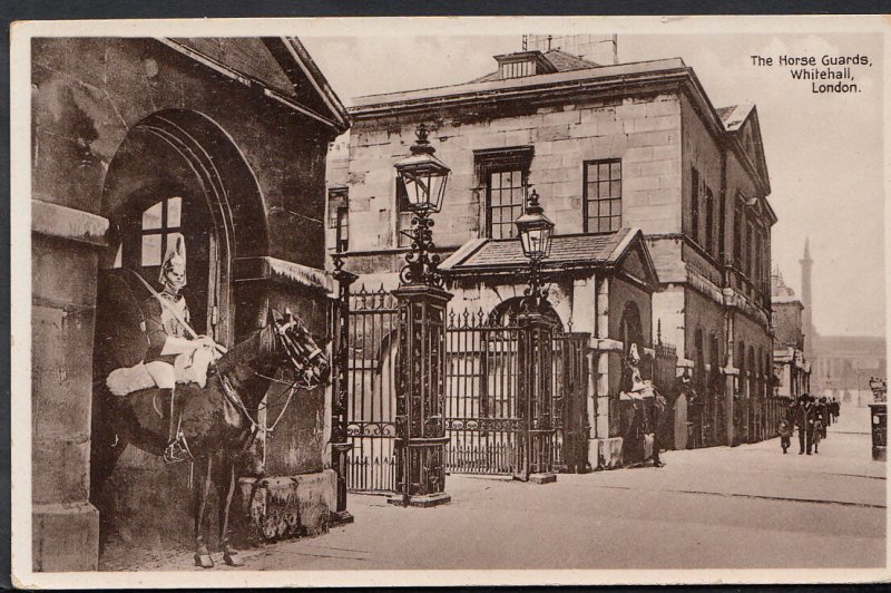
[[[774,395],[797,398],[811,390],[811,362],[805,357],[804,304],[776,271],[771,278],[774,346]],[[807,315],[810,318],[810,315]]]

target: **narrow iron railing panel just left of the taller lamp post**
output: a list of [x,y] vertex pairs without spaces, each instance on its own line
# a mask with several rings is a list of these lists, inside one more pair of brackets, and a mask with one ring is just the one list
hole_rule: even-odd
[[396,299],[364,285],[350,295],[346,458],[351,492],[395,490]]

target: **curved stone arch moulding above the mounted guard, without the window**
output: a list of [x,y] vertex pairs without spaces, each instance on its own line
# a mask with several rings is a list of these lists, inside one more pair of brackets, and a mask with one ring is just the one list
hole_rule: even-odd
[[[121,246],[119,263],[143,268],[137,241],[145,231],[143,216],[173,197],[182,197],[184,217],[192,214],[182,229],[193,239],[188,246],[196,249],[189,251],[200,262],[196,274],[200,282],[193,283],[192,291],[195,301],[206,299],[206,303],[189,303],[203,313],[197,324],[221,342],[232,343],[242,333],[236,331],[235,315],[258,315],[235,310],[232,275],[236,257],[268,253],[266,206],[238,147],[208,117],[169,109],[128,132],[106,175],[102,214],[109,220],[111,246],[100,269],[115,266]],[[153,281],[154,270],[147,268],[145,275]]]

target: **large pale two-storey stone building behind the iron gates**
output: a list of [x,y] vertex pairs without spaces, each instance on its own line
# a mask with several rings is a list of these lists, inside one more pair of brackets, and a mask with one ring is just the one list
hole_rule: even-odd
[[[329,244],[365,281],[395,285],[410,216],[393,163],[421,123],[452,168],[434,215],[447,256],[511,237],[531,185],[558,235],[638,227],[659,281],[646,344],[676,344],[678,373],[721,400],[712,440],[733,443],[734,396],[763,397],[772,368],[776,218],[754,106],[714,108],[679,59],[600,66],[529,50],[496,60],[497,71],[468,84],[354,99],[352,132],[329,154]],[[473,289],[457,299],[482,296]],[[564,322],[570,311],[574,329],[594,327],[593,301],[567,308]],[[610,301],[608,311],[618,323],[620,307]]]

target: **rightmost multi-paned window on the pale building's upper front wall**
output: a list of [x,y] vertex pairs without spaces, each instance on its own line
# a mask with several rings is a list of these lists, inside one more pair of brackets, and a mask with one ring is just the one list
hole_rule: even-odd
[[621,227],[621,159],[585,163],[584,208],[586,233]]

